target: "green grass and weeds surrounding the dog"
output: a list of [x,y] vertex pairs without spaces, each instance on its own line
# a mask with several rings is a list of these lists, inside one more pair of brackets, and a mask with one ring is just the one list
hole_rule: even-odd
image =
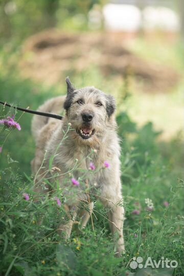
[[[65,84],[45,88],[20,77],[15,69],[16,55],[2,53],[5,70],[0,72],[1,100],[22,107],[35,109],[45,99],[65,93]],[[5,64],[6,63],[6,64]],[[59,217],[64,215],[63,198],[59,208],[49,197],[41,203],[33,200],[33,177],[30,162],[34,156],[31,136],[30,114],[16,113],[21,131],[11,131],[1,153],[0,179],[0,275],[183,275],[183,172],[181,134],[169,142],[158,142],[159,133],[148,122],[140,127],[130,118],[127,111],[127,87],[123,82],[105,79],[98,68],[89,68],[78,78],[77,72],[70,73],[77,87],[95,85],[124,99],[119,104],[117,121],[122,143],[122,183],[126,220],[124,227],[126,252],[122,258],[114,258],[113,237],[108,228],[107,210],[96,202],[93,221],[83,233],[75,231],[68,242],[56,233]],[[122,95],[123,94],[123,95]],[[131,99],[130,99],[131,100]],[[129,107],[130,108],[130,107]],[[1,107],[1,115],[15,111]],[[8,130],[1,135],[4,142]],[[15,162],[17,161],[17,162]],[[29,193],[26,201],[22,193]],[[154,204],[152,212],[146,211],[145,199]],[[168,208],[164,202],[169,202]],[[139,215],[133,215],[139,209]],[[41,226],[38,216],[44,215]],[[176,260],[178,267],[167,269],[133,270],[129,263],[133,257],[141,256],[160,260],[165,257]]]

